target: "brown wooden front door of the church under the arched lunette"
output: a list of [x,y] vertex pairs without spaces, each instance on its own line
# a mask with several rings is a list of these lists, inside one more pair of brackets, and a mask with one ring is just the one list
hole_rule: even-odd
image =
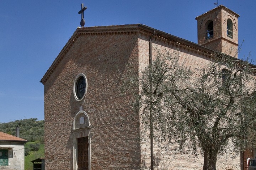
[[78,138],[78,170],[89,170],[88,137]]

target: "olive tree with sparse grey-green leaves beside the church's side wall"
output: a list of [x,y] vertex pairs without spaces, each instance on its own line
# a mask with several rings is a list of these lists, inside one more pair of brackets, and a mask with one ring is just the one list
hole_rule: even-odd
[[166,148],[176,143],[180,152],[201,152],[203,170],[215,170],[218,155],[231,146],[239,153],[255,141],[255,66],[248,61],[218,53],[208,64],[191,67],[177,51],[158,51],[151,68],[127,68],[123,90],[133,89],[142,123],[153,123],[155,140]]

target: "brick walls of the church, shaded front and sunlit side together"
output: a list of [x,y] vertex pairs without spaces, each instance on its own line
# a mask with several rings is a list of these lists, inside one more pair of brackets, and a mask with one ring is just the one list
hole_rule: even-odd
[[[120,95],[119,87],[122,83],[120,73],[127,71],[126,63],[134,63],[138,71],[148,66],[152,33],[138,26],[128,30],[122,27],[130,26],[110,26],[109,30],[105,30],[106,27],[78,29],[58,56],[63,59],[57,67],[51,66],[52,73],[43,81],[46,170],[73,169],[72,126],[80,107],[89,115],[94,134],[91,138],[92,169],[149,168],[149,141],[140,142],[139,114],[129,119],[133,114],[129,102],[133,98]],[[80,30],[82,33],[77,36]],[[153,58],[157,47],[162,51],[179,51],[181,62],[186,59],[188,66],[204,66],[209,62],[209,53],[187,43],[189,45],[153,36]],[[79,73],[84,73],[88,80],[87,94],[80,102],[73,94],[74,80]],[[154,151],[161,160],[158,169],[202,168],[200,156],[166,153],[157,146]],[[234,165],[234,169],[239,169],[240,158],[233,160],[231,155],[233,153],[229,152],[220,157],[217,167]]]

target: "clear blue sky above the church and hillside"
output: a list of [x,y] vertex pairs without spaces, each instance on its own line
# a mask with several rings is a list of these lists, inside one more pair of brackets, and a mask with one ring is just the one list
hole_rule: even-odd
[[[195,18],[217,0],[1,0],[0,123],[44,119],[44,86],[39,83],[80,26],[145,24],[197,43]],[[218,0],[240,15],[239,58],[256,59],[256,0]]]

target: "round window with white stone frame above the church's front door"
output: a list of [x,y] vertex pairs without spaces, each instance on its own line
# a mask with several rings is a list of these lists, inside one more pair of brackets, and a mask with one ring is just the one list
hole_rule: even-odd
[[87,91],[87,79],[84,74],[78,74],[74,82],[74,96],[77,101],[81,101]]

